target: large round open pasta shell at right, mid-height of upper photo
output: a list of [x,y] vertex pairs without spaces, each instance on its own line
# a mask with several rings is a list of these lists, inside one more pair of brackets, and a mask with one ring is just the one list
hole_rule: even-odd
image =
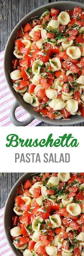
[[81,51],[78,46],[70,46],[67,48],[66,52],[67,52],[68,56],[74,60],[80,58],[80,56],[81,56]]

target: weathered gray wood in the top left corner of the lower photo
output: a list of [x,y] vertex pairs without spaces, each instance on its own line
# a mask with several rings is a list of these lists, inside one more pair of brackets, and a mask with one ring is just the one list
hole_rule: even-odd
[[0,173],[0,209],[5,206],[7,196],[23,173]]

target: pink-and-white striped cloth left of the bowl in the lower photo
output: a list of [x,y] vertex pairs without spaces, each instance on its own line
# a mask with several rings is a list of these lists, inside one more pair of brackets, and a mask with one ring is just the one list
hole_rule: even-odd
[[0,210],[0,256],[14,256],[7,243],[3,227],[4,208]]

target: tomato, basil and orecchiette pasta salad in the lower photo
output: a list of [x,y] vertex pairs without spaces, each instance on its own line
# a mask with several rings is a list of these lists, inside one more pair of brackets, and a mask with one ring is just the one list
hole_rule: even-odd
[[14,200],[10,234],[23,256],[84,256],[84,173],[40,173]]

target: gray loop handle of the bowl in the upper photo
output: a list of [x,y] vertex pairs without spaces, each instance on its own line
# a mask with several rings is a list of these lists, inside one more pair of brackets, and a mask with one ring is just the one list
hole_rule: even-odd
[[26,126],[28,124],[30,124],[33,120],[34,120],[34,117],[33,116],[29,116],[27,118],[27,120],[21,122],[21,121],[18,121],[15,117],[15,110],[17,109],[17,107],[19,107],[20,105],[15,101],[14,104],[12,105],[11,107],[11,110],[10,110],[10,119],[11,119],[11,122],[15,125],[15,126]]

